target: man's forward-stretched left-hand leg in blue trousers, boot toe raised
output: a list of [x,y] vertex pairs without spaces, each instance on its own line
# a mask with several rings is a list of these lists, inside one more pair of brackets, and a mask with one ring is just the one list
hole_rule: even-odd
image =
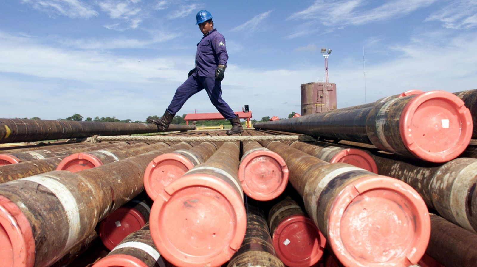
[[202,89],[202,86],[197,83],[197,77],[191,75],[177,88],[169,107],[167,107],[166,112],[164,112],[164,115],[159,119],[146,119],[146,121],[156,124],[159,130],[166,130],[174,118],[174,115],[176,115],[176,113],[182,108],[187,99]]

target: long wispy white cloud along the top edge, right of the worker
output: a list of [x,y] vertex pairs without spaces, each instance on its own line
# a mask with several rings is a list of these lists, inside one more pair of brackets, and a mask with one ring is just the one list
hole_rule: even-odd
[[318,20],[325,26],[335,27],[363,25],[406,15],[435,1],[392,0],[378,7],[370,7],[369,1],[364,0],[316,0],[309,8],[291,14],[288,19]]

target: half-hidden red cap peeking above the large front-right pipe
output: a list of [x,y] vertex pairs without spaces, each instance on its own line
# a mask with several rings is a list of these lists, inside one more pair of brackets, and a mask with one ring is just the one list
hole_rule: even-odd
[[350,165],[378,173],[378,166],[374,159],[365,151],[357,148],[346,148],[336,153],[330,163],[344,162]]

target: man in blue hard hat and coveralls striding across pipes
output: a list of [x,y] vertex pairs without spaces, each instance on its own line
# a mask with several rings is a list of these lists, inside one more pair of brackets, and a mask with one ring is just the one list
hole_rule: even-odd
[[147,119],[147,122],[157,125],[159,130],[166,130],[172,118],[182,108],[191,96],[206,89],[208,97],[218,112],[228,119],[232,129],[227,134],[243,132],[239,115],[236,115],[228,104],[222,99],[220,83],[224,79],[227,68],[228,54],[225,46],[225,38],[217,29],[214,29],[213,17],[207,10],[200,10],[196,16],[199,29],[204,35],[197,44],[196,67],[188,73],[189,78],[176,90],[169,107],[159,119]]

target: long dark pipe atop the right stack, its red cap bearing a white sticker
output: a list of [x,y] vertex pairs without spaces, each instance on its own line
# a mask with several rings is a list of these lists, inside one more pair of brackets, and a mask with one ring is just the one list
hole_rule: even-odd
[[444,91],[395,98],[370,108],[260,122],[254,127],[368,143],[432,162],[456,158],[472,136],[469,109]]

